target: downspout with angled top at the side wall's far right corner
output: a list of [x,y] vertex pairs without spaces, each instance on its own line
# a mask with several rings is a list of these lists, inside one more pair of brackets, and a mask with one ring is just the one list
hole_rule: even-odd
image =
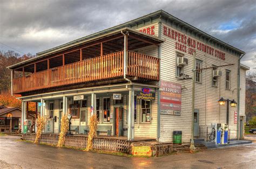
[[242,57],[244,57],[246,53],[242,54],[241,57],[239,58],[238,60],[238,81],[237,81],[237,139],[239,140],[240,139],[240,62],[241,62],[241,59]]

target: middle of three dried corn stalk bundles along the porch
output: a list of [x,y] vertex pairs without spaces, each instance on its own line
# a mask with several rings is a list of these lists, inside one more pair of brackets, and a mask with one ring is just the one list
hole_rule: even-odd
[[64,145],[66,132],[68,132],[69,129],[69,119],[68,114],[64,114],[62,112],[62,119],[60,121],[60,133],[59,133],[59,140],[58,140],[58,147],[62,147]]

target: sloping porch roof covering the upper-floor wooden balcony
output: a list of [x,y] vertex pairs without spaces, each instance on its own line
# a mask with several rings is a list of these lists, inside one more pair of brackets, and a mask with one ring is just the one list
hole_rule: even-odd
[[123,27],[122,29],[114,30],[114,31],[111,31],[111,32],[98,32],[98,33],[95,33],[95,34],[91,34],[91,35],[86,36],[84,38],[80,38],[80,39],[71,41],[70,43],[66,43],[64,45],[60,45],[60,46],[51,48],[49,50],[37,53],[37,57],[35,57],[35,58],[31,58],[31,59],[28,59],[28,60],[25,60],[25,61],[22,61],[22,62],[18,62],[17,64],[8,66],[7,68],[15,69],[17,67],[25,65],[28,62],[35,61],[35,60],[38,60],[40,58],[46,57],[48,55],[55,54],[55,53],[58,53],[58,52],[62,52],[64,50],[68,50],[70,48],[74,48],[74,47],[77,47],[79,45],[86,45],[87,43],[91,43],[91,42],[93,43],[93,41],[96,41],[96,40],[103,40],[103,38],[113,37],[113,36],[123,36],[121,32],[124,32],[124,33],[128,32],[129,36],[133,36],[133,38],[134,38],[134,36],[136,36],[137,38],[138,37],[143,38],[146,41],[146,43],[149,43],[149,44],[158,45],[158,44],[164,42],[164,40],[162,40],[160,38],[151,36],[151,35],[143,33],[143,32],[139,32],[139,31],[131,29],[129,27]]

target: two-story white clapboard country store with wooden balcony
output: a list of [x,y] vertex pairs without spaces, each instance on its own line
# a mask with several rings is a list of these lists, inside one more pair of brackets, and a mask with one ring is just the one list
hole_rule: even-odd
[[[46,133],[59,133],[65,112],[80,135],[96,114],[99,135],[171,142],[178,130],[182,142],[190,142],[192,128],[194,137],[206,138],[203,129],[213,123],[228,124],[231,139],[242,137],[244,54],[160,10],[8,68],[12,93],[22,95],[22,125],[26,102],[37,102],[37,111],[49,119]],[[225,106],[218,102],[222,97]]]

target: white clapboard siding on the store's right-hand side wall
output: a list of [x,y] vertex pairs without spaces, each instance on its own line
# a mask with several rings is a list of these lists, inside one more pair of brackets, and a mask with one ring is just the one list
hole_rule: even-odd
[[[160,115],[160,141],[171,141],[172,132],[174,130],[181,130],[183,131],[183,142],[189,142],[191,138],[192,123],[192,80],[177,81],[176,52],[180,51],[177,51],[175,48],[175,40],[163,35],[164,25],[171,27],[167,24],[162,24],[161,26],[161,39],[164,39],[165,42],[161,44],[160,80],[180,83],[182,86],[185,86],[186,89],[182,90],[181,116]],[[173,27],[172,29],[176,30]],[[183,34],[186,33],[183,32]],[[192,38],[196,39],[194,37]],[[201,42],[203,43],[203,41]],[[211,46],[211,44],[208,44],[208,46]],[[218,50],[221,51],[220,49]],[[184,67],[184,73],[192,77],[191,70],[193,56],[187,53],[184,54],[185,58],[188,59],[188,65]],[[201,51],[197,51],[196,53],[196,59],[203,61],[203,68],[212,67],[212,65],[220,66],[234,64],[232,66],[218,68],[223,72],[223,76],[218,79],[218,87],[212,87],[212,69],[204,70],[202,73],[202,83],[196,83],[194,108],[199,109],[199,125],[211,123],[226,123],[226,106],[220,107],[217,101],[220,97],[237,100],[237,90],[234,89],[237,88],[238,57],[226,53],[225,58],[226,59],[223,61]],[[230,90],[225,89],[226,69],[231,71]],[[236,109],[237,108],[230,107],[229,124],[231,129],[231,138],[235,138],[236,136],[237,127],[236,124],[234,124],[234,110]]]

